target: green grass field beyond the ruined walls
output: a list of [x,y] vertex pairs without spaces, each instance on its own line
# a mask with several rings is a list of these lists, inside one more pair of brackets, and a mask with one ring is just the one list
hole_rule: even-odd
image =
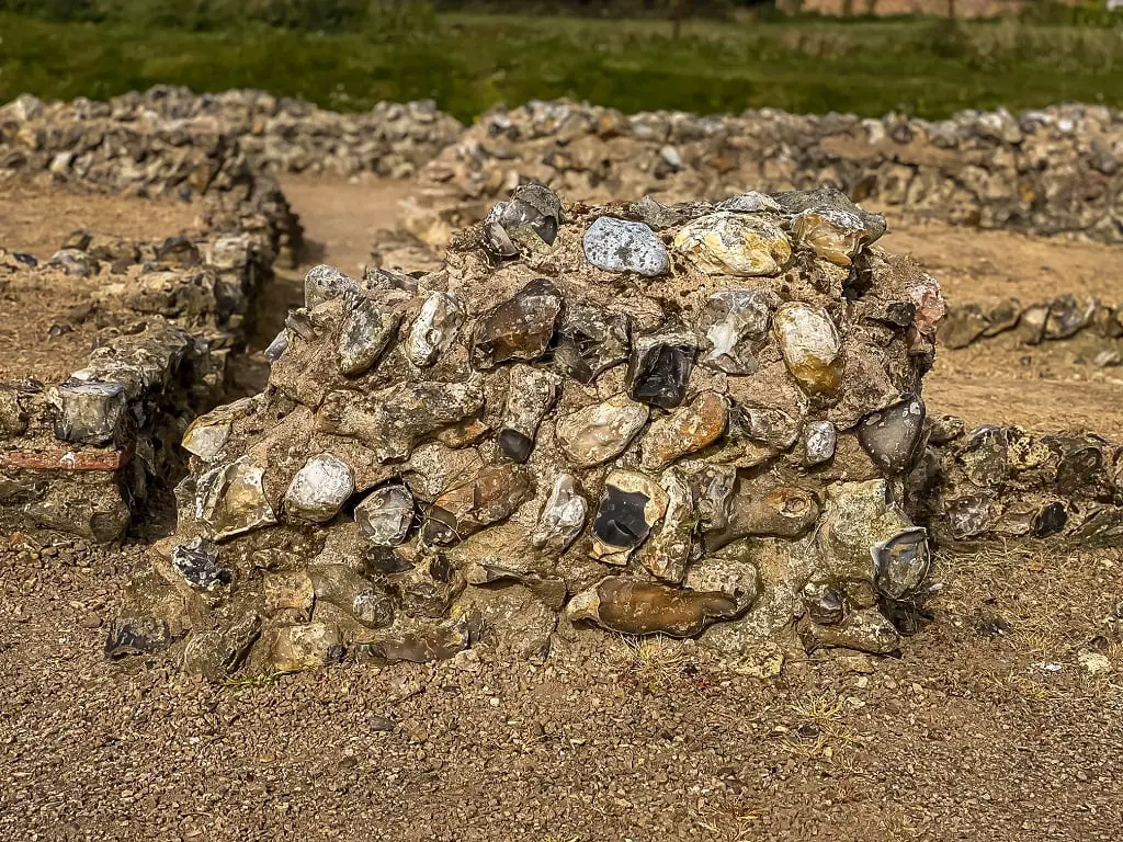
[[427,15],[355,34],[56,24],[0,13],[0,100],[104,99],[155,83],[263,88],[338,110],[435,99],[462,120],[573,97],[624,111],[1123,106],[1123,29],[1017,21],[664,21]]

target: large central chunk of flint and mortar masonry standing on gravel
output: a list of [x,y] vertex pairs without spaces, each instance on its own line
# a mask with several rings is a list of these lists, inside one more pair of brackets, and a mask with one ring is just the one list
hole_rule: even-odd
[[199,418],[106,651],[221,680],[587,628],[732,668],[892,652],[939,284],[831,190],[563,207],[521,187],[429,274],[318,266],[267,388]]

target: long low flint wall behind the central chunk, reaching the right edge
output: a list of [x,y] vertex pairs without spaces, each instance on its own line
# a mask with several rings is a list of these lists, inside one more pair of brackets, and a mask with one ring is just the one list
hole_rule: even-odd
[[1123,117],[1080,104],[929,121],[530,102],[489,112],[421,171],[407,227],[439,249],[528,181],[582,202],[829,184],[920,218],[1119,242],[1121,155]]

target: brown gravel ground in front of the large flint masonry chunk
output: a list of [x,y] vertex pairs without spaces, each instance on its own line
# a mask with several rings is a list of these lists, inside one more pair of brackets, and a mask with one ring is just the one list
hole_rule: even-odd
[[218,687],[102,658],[144,551],[0,556],[0,839],[1119,839],[1116,555],[943,556],[901,659],[775,680],[590,632]]

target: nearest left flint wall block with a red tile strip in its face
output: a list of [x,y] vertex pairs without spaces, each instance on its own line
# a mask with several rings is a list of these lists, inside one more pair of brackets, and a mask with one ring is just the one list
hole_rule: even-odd
[[[103,331],[65,383],[0,384],[0,533],[124,534],[184,419],[221,394],[207,340],[154,317]],[[182,461],[182,460],[181,460]]]

